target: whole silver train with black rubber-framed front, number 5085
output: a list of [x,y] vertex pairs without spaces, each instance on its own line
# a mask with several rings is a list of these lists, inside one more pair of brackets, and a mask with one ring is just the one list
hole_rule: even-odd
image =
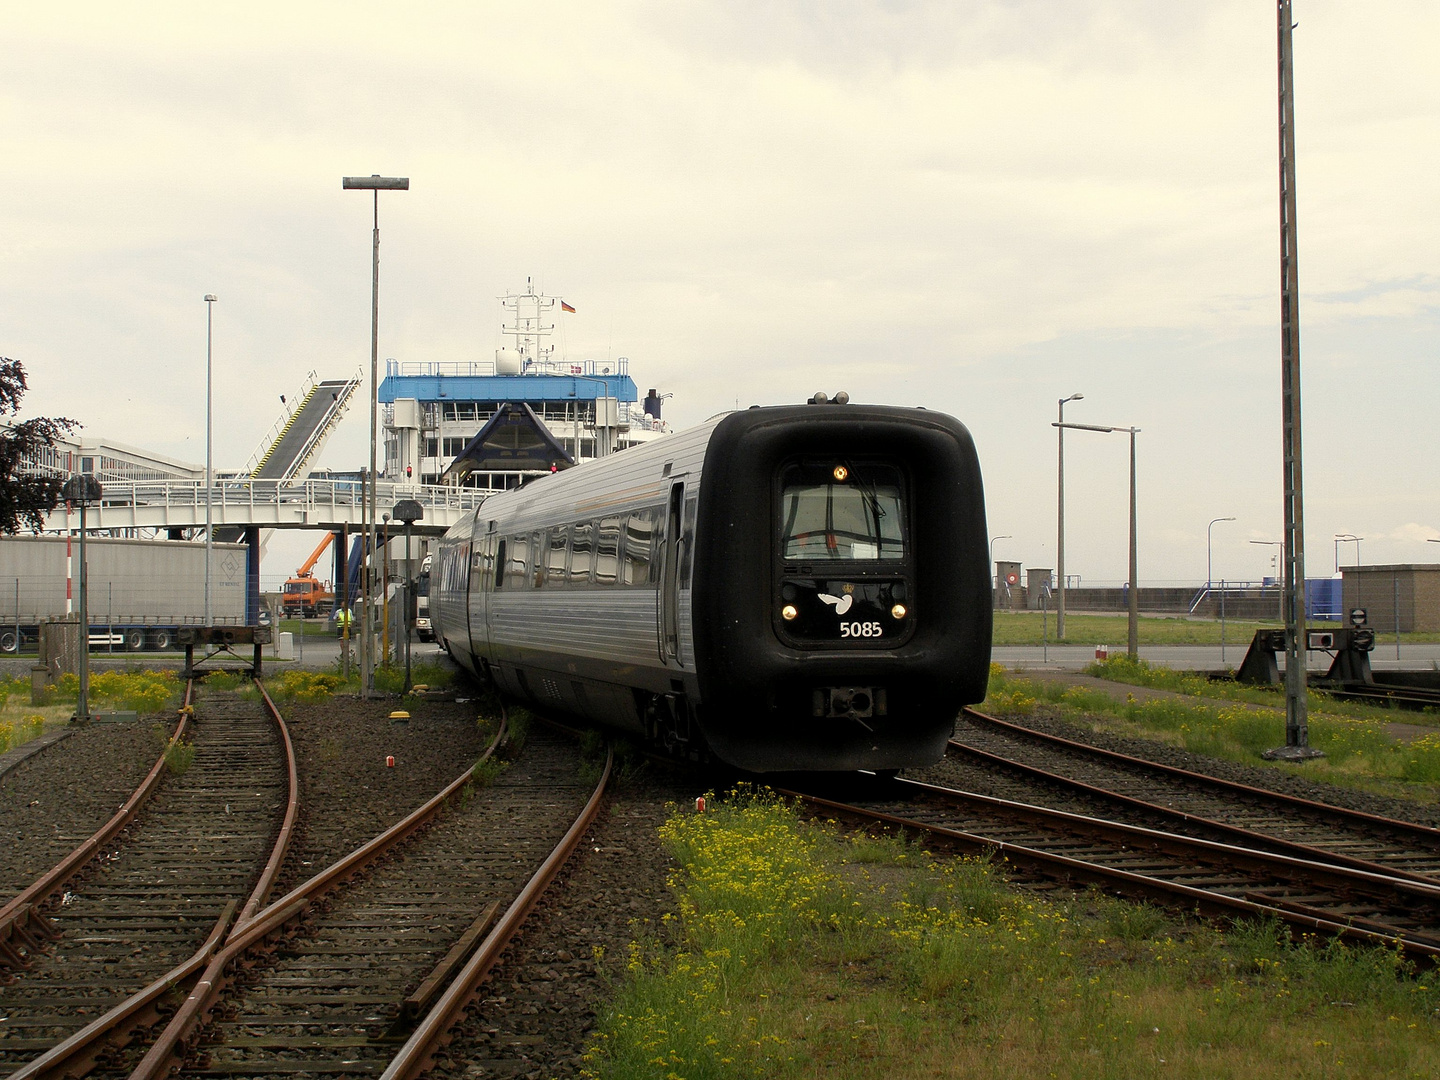
[[959,420],[756,408],[485,500],[431,616],[539,708],[752,772],[891,770],[985,697],[986,559]]

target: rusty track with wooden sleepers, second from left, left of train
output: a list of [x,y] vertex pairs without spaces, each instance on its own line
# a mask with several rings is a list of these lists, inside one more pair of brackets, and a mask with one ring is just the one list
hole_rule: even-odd
[[[503,737],[504,729],[485,757]],[[467,770],[268,907],[256,891],[233,926],[222,912],[187,960],[13,1076],[160,1077],[181,1067],[230,1077],[419,1076],[599,811],[609,759],[590,791],[577,750],[547,733],[530,739],[524,760],[491,788],[474,793]],[[454,812],[435,824],[445,806]],[[272,857],[262,886],[276,865]],[[144,1057],[143,1045],[125,1050],[128,1031],[186,985],[193,989]]]

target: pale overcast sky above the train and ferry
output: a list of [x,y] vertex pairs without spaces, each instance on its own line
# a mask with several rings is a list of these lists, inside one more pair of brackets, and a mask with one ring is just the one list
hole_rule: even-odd
[[[1308,567],[1431,562],[1433,3],[1297,0]],[[563,295],[685,426],[848,390],[973,432],[998,557],[1054,566],[1058,397],[1142,428],[1140,577],[1282,537],[1274,6],[13,4],[0,353],[26,413],[220,467],[307,372],[490,359]],[[1424,72],[1431,72],[1426,75]],[[351,409],[321,465],[364,462]],[[1128,445],[1073,432],[1067,570],[1126,573]],[[295,547],[271,547],[266,579]],[[1342,562],[1354,562],[1354,544]],[[279,554],[276,554],[276,550]]]

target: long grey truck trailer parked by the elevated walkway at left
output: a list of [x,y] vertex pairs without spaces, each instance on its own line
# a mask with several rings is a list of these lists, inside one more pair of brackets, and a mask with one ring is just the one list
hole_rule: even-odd
[[[79,613],[81,544],[63,536],[0,537],[0,652],[33,648],[42,622]],[[204,544],[86,539],[91,648],[166,649],[204,622]],[[210,622],[245,625],[246,547],[213,544]],[[69,596],[69,600],[66,598]]]

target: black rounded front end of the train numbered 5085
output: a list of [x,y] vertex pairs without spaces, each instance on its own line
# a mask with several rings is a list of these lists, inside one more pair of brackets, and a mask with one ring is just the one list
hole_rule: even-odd
[[950,416],[733,413],[706,455],[694,566],[700,726],[733,765],[927,765],[985,697],[984,491]]

